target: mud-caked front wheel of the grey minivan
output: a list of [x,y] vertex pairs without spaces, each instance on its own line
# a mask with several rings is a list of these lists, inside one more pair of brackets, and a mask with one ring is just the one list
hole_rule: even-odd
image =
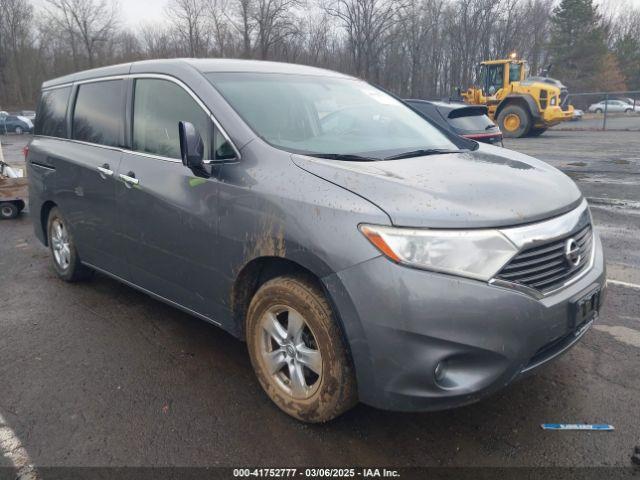
[[341,330],[326,297],[311,282],[293,276],[266,282],[251,300],[245,328],[258,381],[282,411],[320,423],[357,403]]

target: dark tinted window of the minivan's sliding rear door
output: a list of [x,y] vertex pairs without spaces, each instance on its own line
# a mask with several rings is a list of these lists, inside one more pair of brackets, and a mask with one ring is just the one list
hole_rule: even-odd
[[120,145],[123,124],[122,80],[80,85],[73,113],[73,138],[101,145]]

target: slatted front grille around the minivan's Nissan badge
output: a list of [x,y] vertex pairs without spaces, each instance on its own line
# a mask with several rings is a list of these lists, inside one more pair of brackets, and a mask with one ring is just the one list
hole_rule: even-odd
[[[581,259],[573,266],[566,258],[567,240],[573,238],[580,249]],[[582,272],[591,261],[593,233],[587,225],[563,238],[530,247],[513,257],[496,275],[507,282],[525,285],[543,293],[562,286]]]

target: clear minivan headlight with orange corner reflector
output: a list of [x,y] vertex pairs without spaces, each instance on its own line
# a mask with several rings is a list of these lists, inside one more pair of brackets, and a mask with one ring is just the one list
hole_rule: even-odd
[[360,225],[391,260],[425,270],[490,280],[518,252],[497,230],[417,230]]

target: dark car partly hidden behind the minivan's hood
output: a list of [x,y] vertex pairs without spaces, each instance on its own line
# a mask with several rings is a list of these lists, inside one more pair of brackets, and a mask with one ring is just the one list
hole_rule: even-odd
[[432,102],[428,100],[405,100],[426,119],[478,142],[502,144],[502,132],[488,116],[482,105],[466,105],[458,102]]

